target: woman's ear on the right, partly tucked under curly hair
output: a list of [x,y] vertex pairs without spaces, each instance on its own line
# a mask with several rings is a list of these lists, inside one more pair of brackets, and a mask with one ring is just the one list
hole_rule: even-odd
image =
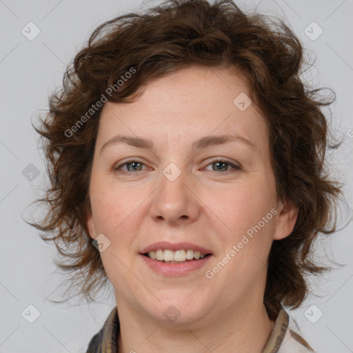
[[297,206],[290,200],[279,201],[277,211],[278,216],[273,235],[274,240],[283,239],[293,232],[299,213]]

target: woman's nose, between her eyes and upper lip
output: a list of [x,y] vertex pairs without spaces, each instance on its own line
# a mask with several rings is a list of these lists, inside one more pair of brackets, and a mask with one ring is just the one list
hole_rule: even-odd
[[199,217],[201,210],[196,190],[193,190],[191,177],[181,172],[171,181],[161,175],[161,185],[154,192],[150,216],[154,221],[165,221],[170,225],[192,223]]

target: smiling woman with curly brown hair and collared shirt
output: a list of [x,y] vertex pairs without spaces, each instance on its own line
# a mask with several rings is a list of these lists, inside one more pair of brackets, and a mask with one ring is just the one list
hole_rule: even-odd
[[87,352],[312,352],[299,307],[340,189],[327,122],[284,23],[169,1],[103,23],[38,131],[49,232],[88,299],[114,307]]

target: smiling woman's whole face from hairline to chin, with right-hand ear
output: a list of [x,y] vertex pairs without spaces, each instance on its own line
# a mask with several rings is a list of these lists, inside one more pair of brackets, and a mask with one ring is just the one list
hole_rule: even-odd
[[277,200],[268,130],[246,94],[234,72],[194,66],[104,104],[88,228],[103,234],[118,307],[205,325],[263,305],[272,241],[296,213]]

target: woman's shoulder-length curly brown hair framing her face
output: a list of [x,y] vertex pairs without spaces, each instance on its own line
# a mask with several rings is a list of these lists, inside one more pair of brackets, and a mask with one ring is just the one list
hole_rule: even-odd
[[[237,68],[268,123],[277,194],[293,201],[299,215],[292,234],[272,243],[264,303],[270,319],[281,304],[301,305],[309,290],[305,275],[327,270],[310,259],[312,243],[319,233],[334,232],[341,193],[324,163],[329,131],[321,108],[334,98],[323,99],[304,83],[303,58],[299,39],[281,19],[245,14],[226,0],[166,1],[94,30],[68,65],[62,88],[52,93],[48,114],[36,128],[45,138],[50,188],[38,200],[48,212],[32,224],[44,231],[43,240],[54,241],[61,255],[57,266],[70,272],[85,299],[94,300],[107,281],[87,228],[102,105],[97,102],[128,103],[150,81],[203,65]],[[134,74],[124,79],[128,72]]]

